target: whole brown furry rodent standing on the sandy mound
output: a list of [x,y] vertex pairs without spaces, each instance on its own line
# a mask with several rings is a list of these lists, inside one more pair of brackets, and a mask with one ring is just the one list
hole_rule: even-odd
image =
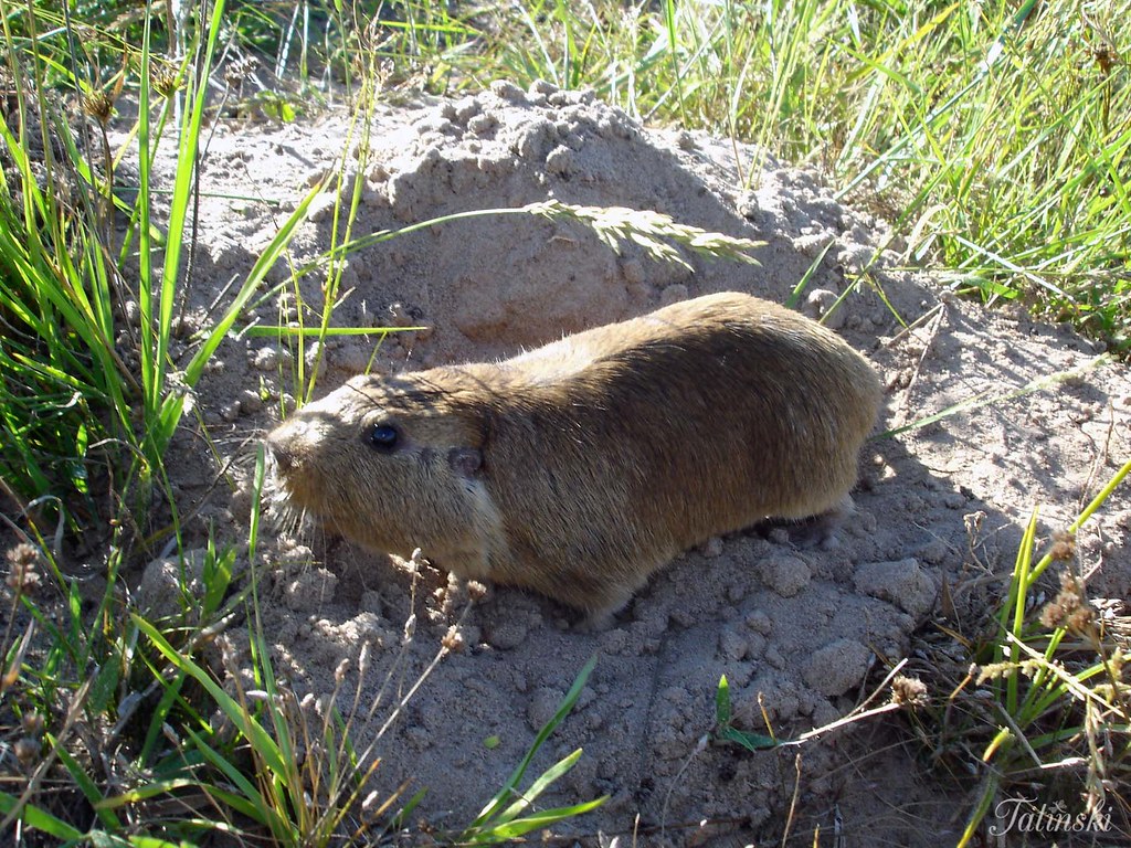
[[357,377],[267,443],[331,529],[599,624],[692,545],[851,505],[880,400],[830,330],[724,293],[504,362]]

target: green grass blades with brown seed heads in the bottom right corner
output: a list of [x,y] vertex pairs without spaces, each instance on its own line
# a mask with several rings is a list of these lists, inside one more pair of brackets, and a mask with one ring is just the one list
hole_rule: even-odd
[[[995,802],[1042,772],[1070,776],[1069,785],[1080,789],[1077,803],[1097,821],[1105,805],[1122,803],[1119,787],[1131,781],[1131,683],[1124,670],[1131,623],[1091,605],[1074,539],[1129,473],[1131,461],[1035,564],[1036,512],[1026,527],[998,618],[1004,638],[993,640],[992,661],[981,665],[973,681],[992,694],[995,715],[987,725],[998,730],[982,752],[983,785],[959,848],[974,838]],[[1034,608],[1037,580],[1053,563],[1064,569],[1060,591]]]

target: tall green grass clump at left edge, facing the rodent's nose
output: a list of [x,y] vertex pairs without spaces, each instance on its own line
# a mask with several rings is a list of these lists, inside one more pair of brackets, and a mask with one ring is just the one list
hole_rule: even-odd
[[[184,403],[240,311],[284,252],[317,189],[297,205],[248,274],[233,302],[201,331],[185,362],[174,363],[171,341],[184,297],[182,262],[199,167],[206,93],[219,43],[224,3],[196,27],[189,55],[170,69],[150,51],[146,18],[137,53],[122,52],[138,83],[139,190],[133,206],[113,193],[114,163],[104,135],[111,92],[97,87],[89,51],[69,18],[52,38],[35,37],[41,20],[31,7],[19,16],[26,36],[6,18],[5,45],[12,96],[0,121],[7,191],[0,194],[0,477],[24,511],[50,494],[68,521],[109,520],[119,504],[139,509],[163,485],[163,457]],[[129,68],[130,66],[127,64]],[[79,69],[90,76],[79,76]],[[50,70],[50,75],[49,75]],[[61,76],[83,111],[49,85]],[[158,233],[150,191],[153,153],[183,98],[178,130],[178,171]],[[167,144],[167,142],[166,142]],[[112,216],[130,225],[113,235]],[[128,259],[137,262],[130,283]],[[130,313],[136,304],[136,319]],[[90,479],[93,471],[103,474]],[[129,491],[136,487],[136,496]],[[110,497],[105,496],[109,491]],[[100,510],[96,504],[103,504]],[[110,514],[107,514],[107,510]]]

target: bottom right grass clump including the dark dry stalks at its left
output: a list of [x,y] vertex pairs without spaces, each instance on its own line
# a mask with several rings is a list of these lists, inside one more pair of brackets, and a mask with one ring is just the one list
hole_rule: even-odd
[[[959,846],[976,843],[987,827],[1001,833],[1000,819],[1022,801],[1033,810],[1044,804],[1082,815],[1105,838],[1117,837],[1121,816],[1125,821],[1131,621],[1088,597],[1074,540],[1128,474],[1131,462],[1036,561],[1034,512],[991,612],[979,604],[964,614],[948,592],[949,621],[921,642],[930,663],[918,670],[932,696],[913,713],[914,733],[931,761],[955,772],[965,789],[969,776],[977,777]],[[1060,590],[1044,600],[1042,577],[1053,565],[1062,569]]]

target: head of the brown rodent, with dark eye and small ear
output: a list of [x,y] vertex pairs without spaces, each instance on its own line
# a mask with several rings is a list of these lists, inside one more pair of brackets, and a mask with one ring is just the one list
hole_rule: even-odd
[[487,427],[482,392],[461,382],[357,377],[308,404],[267,436],[290,504],[378,551],[466,556],[482,536]]

